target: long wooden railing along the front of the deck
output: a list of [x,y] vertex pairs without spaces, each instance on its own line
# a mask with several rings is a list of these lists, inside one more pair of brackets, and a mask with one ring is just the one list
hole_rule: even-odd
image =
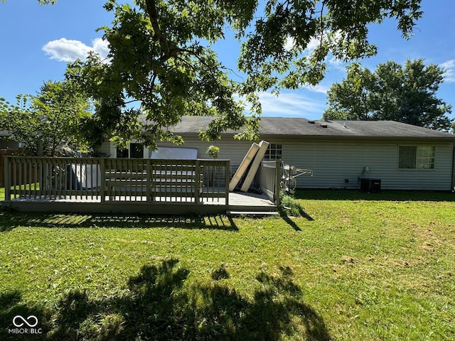
[[227,160],[5,157],[5,200],[228,205]]

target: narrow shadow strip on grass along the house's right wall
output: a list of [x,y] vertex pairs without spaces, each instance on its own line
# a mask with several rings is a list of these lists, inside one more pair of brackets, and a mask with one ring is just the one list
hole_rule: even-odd
[[455,193],[424,190],[381,190],[378,193],[342,189],[297,190],[294,197],[303,200],[455,201]]

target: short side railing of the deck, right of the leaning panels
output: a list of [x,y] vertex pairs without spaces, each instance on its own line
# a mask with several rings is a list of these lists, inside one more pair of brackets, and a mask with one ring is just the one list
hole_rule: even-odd
[[259,187],[275,205],[280,205],[281,161],[262,161],[259,167]]

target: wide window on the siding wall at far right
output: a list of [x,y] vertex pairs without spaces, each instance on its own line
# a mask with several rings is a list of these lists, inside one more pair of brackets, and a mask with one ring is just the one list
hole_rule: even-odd
[[398,169],[434,169],[434,147],[398,147]]

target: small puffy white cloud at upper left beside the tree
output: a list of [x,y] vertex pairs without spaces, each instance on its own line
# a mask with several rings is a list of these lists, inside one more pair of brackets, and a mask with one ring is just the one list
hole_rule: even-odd
[[102,38],[92,40],[92,47],[79,40],[60,38],[46,43],[43,46],[43,51],[50,56],[50,59],[59,62],[73,62],[77,58],[84,60],[90,51],[94,51],[100,55],[100,58],[105,59],[109,49],[107,48],[107,41],[102,40]]

